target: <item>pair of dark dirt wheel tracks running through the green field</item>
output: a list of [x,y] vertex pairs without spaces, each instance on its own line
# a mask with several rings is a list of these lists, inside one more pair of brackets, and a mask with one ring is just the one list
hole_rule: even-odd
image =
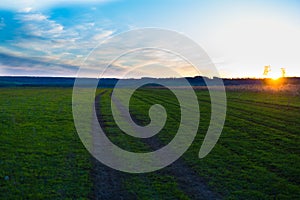
[[[95,106],[97,112],[97,118],[101,126],[104,125],[101,120],[100,113],[100,98],[99,94],[95,99]],[[122,109],[122,104],[113,99],[117,108],[120,112],[124,112]],[[152,137],[149,140],[143,140],[146,145],[148,145],[151,149],[159,149],[162,143],[155,137]],[[123,172],[119,172],[117,170],[108,168],[101,164],[97,160],[93,160],[94,162],[94,170],[92,173],[94,180],[94,198],[95,199],[135,199],[136,197],[133,194],[129,194],[122,182],[124,182],[129,176],[135,176],[139,178],[144,178],[144,174],[132,175]],[[190,168],[183,159],[179,159],[170,166],[152,172],[158,175],[170,175],[175,177],[175,180],[178,184],[180,190],[182,190],[189,198],[191,199],[221,199],[218,194],[213,193],[204,180],[197,175],[197,173]]]

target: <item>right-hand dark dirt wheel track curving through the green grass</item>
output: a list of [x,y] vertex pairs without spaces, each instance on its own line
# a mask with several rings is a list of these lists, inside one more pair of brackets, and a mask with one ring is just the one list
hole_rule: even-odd
[[[112,101],[121,115],[126,112],[120,100],[113,98]],[[151,149],[159,149],[162,146],[162,142],[155,137],[143,141],[145,141],[145,144],[150,146]],[[221,199],[218,194],[209,189],[204,179],[190,168],[182,158],[179,158],[168,167],[155,173],[174,176],[177,180],[178,187],[191,199]]]

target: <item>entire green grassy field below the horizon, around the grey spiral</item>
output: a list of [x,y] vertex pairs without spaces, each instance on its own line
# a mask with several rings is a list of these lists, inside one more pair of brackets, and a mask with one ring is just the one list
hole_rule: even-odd
[[[110,110],[111,89],[98,93],[103,91],[99,114],[108,137],[129,151],[153,150],[153,141],[119,130]],[[99,180],[110,180],[99,184],[125,199],[200,198],[195,193],[200,186],[190,184],[195,180],[205,186],[203,192],[220,199],[299,199],[299,95],[227,92],[222,135],[212,152],[198,159],[210,119],[210,98],[205,90],[196,93],[200,126],[183,157],[156,172],[125,174],[96,163],[84,148],[74,127],[72,88],[1,88],[0,199],[100,198],[104,191],[98,191]],[[156,103],[168,113],[165,127],[155,136],[155,144],[164,145],[174,137],[180,120],[174,95],[164,89],[140,89],[131,99],[130,111],[137,124],[146,125],[148,110]]]

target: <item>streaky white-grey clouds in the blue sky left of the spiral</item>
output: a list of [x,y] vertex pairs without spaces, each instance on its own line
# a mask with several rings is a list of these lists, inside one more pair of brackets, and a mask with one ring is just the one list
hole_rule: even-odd
[[[77,70],[74,66],[115,32],[89,19],[64,26],[55,18],[32,9],[16,12],[11,20],[19,27],[15,38],[0,46],[2,72],[18,70],[18,73],[47,72],[49,75],[65,72],[65,76],[74,76]],[[0,22],[4,24],[4,19],[0,18]]]

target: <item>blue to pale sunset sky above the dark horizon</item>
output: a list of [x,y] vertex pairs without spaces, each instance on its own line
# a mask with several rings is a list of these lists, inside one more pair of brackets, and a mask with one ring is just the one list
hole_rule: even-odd
[[[297,0],[1,0],[0,76],[76,76],[99,43],[144,27],[194,40],[224,78],[263,77],[266,65],[269,76],[280,76],[280,68],[286,76],[300,76]],[[114,68],[130,68],[139,60],[149,64],[148,72],[169,66],[183,76],[197,75],[174,55],[143,53],[148,56],[123,56]],[[107,74],[117,75],[117,70]]]

